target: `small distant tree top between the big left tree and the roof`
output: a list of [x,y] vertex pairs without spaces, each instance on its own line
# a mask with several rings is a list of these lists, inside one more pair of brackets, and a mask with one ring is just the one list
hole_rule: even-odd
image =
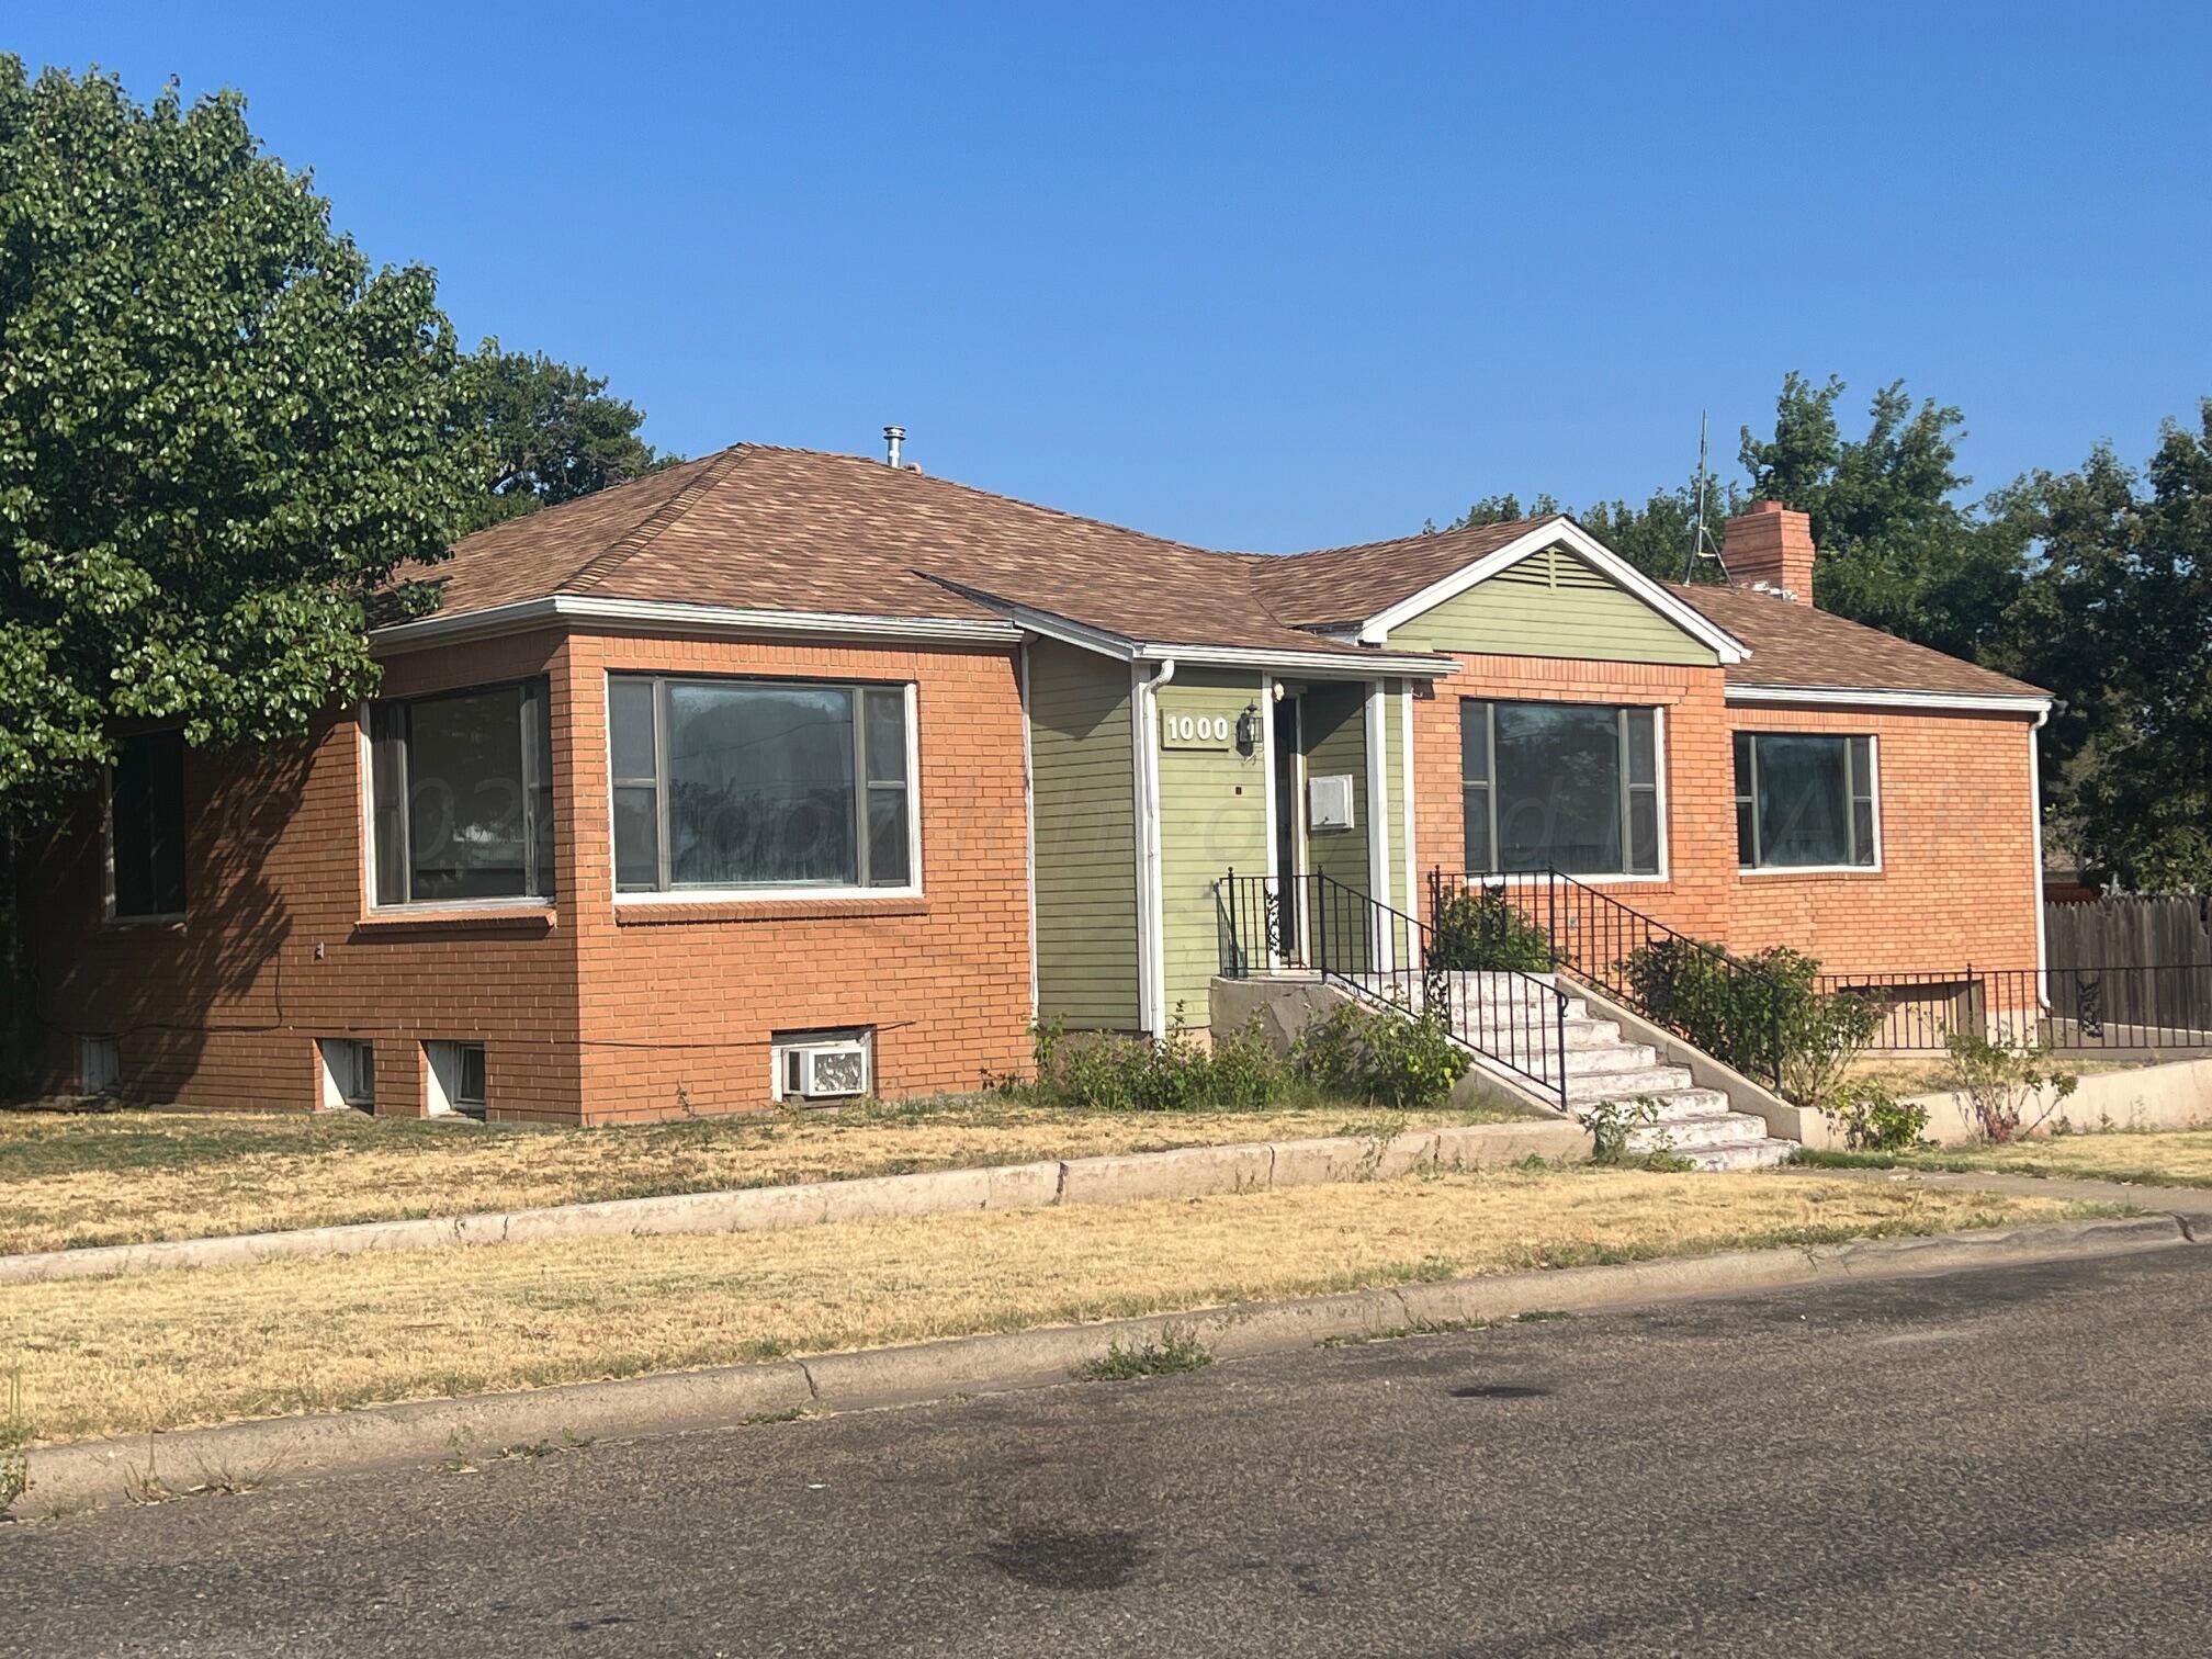
[[659,471],[677,456],[653,449],[635,405],[606,394],[606,378],[542,352],[507,352],[495,338],[462,367],[471,420],[493,456],[491,487],[465,529],[588,495]]

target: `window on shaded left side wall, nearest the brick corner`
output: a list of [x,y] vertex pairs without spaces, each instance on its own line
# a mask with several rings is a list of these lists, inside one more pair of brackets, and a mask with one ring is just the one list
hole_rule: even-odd
[[378,905],[553,896],[546,684],[369,706]]

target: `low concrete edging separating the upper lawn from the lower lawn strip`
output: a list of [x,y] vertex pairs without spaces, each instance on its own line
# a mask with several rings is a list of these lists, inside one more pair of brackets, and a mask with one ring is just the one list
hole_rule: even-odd
[[599,1203],[557,1203],[540,1210],[429,1217],[422,1221],[358,1221],[345,1228],[44,1250],[27,1256],[0,1256],[0,1285],[144,1274],[168,1267],[232,1267],[276,1256],[352,1256],[365,1250],[436,1250],[442,1245],[604,1239],[646,1232],[765,1232],[891,1214],[1197,1199],[1214,1192],[1265,1192],[1279,1186],[1389,1179],[1431,1168],[1493,1170],[1531,1157],[1579,1161],[1588,1155],[1588,1130],[1564,1121],[1425,1128],[1387,1141],[1340,1135],[1312,1141],[1186,1146],[1170,1152],[991,1164],[973,1170],[757,1186],[734,1192],[672,1192],[659,1199],[604,1199]]

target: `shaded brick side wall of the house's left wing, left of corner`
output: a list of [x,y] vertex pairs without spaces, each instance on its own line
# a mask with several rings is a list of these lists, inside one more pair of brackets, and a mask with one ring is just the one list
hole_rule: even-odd
[[[385,690],[551,672],[560,768],[562,655],[551,633],[409,653],[385,666]],[[29,880],[49,1088],[71,1086],[75,1037],[93,1033],[117,1040],[131,1099],[305,1108],[321,1097],[314,1040],[352,1035],[376,1044],[376,1110],[420,1113],[422,1042],[456,1037],[484,1042],[500,1117],[575,1113],[568,918],[372,920],[361,768],[352,710],[252,761],[188,752],[181,922],[102,922],[100,803],[84,803]]]

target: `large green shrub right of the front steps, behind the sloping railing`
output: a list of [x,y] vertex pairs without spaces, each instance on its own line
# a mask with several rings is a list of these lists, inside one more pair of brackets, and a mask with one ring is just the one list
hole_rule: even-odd
[[1865,998],[1823,993],[1820,964],[1787,945],[1739,962],[1697,940],[1652,940],[1619,969],[1644,1018],[1805,1106],[1836,1095],[1882,1024]]

